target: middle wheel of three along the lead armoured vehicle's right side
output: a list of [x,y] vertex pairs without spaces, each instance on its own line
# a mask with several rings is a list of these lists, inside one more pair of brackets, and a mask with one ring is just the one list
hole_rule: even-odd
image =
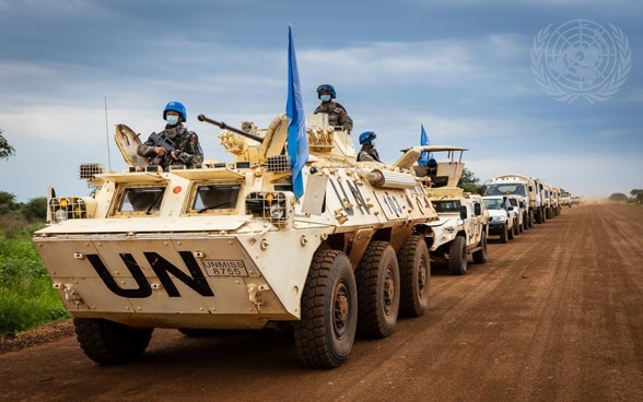
[[386,338],[393,333],[399,311],[399,267],[393,247],[372,241],[355,271],[358,282],[358,333]]

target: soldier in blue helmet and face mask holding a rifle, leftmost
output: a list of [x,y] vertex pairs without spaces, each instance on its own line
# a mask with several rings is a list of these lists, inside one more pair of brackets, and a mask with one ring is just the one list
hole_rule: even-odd
[[180,102],[169,102],[163,109],[163,119],[166,125],[159,137],[162,140],[171,140],[174,143],[174,150],[167,151],[167,143],[155,142],[150,135],[148,141],[139,145],[137,153],[147,156],[151,165],[161,165],[164,169],[169,165],[192,167],[202,163],[203,151],[199,144],[199,137],[183,126],[183,122],[187,120],[185,106]]

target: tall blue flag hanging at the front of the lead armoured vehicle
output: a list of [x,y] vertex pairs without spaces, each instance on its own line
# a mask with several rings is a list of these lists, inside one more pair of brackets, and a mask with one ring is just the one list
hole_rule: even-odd
[[292,191],[296,200],[304,194],[304,177],[302,170],[308,159],[308,138],[306,135],[306,120],[304,100],[297,59],[292,40],[292,28],[288,26],[288,156],[290,157]]

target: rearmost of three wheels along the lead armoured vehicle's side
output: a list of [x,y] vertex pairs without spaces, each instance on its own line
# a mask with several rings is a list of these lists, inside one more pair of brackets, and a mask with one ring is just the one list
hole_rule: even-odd
[[397,253],[400,275],[399,315],[420,317],[429,305],[431,261],[424,238],[407,237]]

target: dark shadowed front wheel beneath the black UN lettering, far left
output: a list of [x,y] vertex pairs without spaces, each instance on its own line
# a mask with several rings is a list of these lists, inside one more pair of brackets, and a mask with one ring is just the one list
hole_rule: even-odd
[[130,362],[142,355],[154,330],[101,318],[74,318],[73,327],[85,355],[105,365]]

